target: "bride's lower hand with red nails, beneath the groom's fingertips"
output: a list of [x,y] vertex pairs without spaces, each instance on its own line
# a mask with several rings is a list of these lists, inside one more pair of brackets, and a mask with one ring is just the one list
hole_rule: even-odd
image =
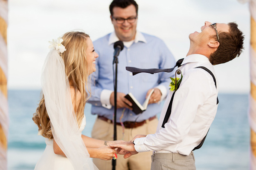
[[113,157],[115,157],[116,150],[111,149],[108,146],[103,146],[97,148],[96,158],[102,159],[102,160],[111,160]]

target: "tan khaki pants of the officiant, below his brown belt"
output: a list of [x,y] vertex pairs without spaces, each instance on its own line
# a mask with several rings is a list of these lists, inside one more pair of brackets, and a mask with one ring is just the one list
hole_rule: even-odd
[[[154,134],[157,129],[158,120],[153,119],[136,128],[125,128],[124,134],[122,126],[116,125],[117,140],[130,141],[136,135]],[[113,124],[96,118],[92,130],[92,138],[113,141]],[[150,170],[152,152],[138,153],[124,159],[123,155],[117,155],[116,170]],[[112,170],[112,160],[104,161],[101,159],[93,159],[93,163],[99,170]]]

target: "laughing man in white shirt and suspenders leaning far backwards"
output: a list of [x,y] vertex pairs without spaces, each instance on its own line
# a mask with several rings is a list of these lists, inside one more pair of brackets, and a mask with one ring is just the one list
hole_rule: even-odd
[[[178,68],[181,74],[177,76],[182,78],[178,81],[180,86],[175,92],[169,91],[157,132],[111,145],[130,151],[125,158],[154,150],[151,170],[167,170],[168,167],[196,169],[192,150],[203,143],[218,107],[218,81],[213,65],[238,57],[243,49],[244,36],[236,23],[212,24],[206,21],[200,33],[189,34],[189,40],[189,52]],[[166,117],[169,112],[171,115]]]

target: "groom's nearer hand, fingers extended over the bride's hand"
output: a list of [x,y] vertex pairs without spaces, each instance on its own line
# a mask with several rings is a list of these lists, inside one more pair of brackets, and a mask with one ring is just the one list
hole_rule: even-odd
[[118,149],[119,153],[125,153],[124,158],[129,158],[132,155],[137,154],[138,152],[135,150],[134,148],[134,143],[133,142],[123,142],[123,143],[117,143],[117,144],[110,144],[110,147],[112,148],[116,148],[119,147],[120,149]]

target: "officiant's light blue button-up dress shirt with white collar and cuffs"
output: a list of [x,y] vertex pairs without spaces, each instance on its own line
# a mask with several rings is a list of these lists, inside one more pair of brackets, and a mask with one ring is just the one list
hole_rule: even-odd
[[[112,33],[93,42],[99,57],[96,59],[96,71],[91,77],[93,82],[91,85],[92,96],[88,101],[92,104],[92,114],[98,114],[111,120],[113,119],[114,107],[111,105],[109,107],[107,103],[102,102],[101,98],[109,96],[113,91],[113,68],[115,69],[115,65],[113,65],[113,44],[115,41],[113,40],[116,38],[116,35]],[[166,92],[163,97],[166,97],[169,91],[169,83],[171,82],[169,77],[174,77],[173,73],[140,73],[132,76],[131,72],[125,70],[126,66],[137,68],[172,68],[175,65],[175,59],[162,40],[137,31],[134,42],[129,47],[125,46],[123,48],[119,54],[118,61],[117,92],[124,94],[132,93],[143,104],[149,89],[159,87],[161,90],[164,87]],[[106,93],[106,91],[110,93]],[[148,105],[147,110],[139,115],[126,108],[122,122],[134,122],[136,119],[136,122],[141,122],[160,113],[161,110],[161,105],[157,103]],[[122,111],[123,108],[117,109],[116,122],[120,122],[119,119]]]

